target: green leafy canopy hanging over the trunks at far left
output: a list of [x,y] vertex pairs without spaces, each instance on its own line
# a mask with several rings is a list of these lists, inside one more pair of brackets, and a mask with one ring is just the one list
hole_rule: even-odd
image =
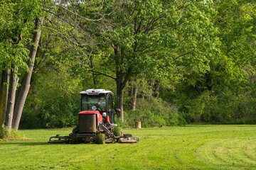
[[[41,11],[42,1],[4,1],[0,6],[0,66],[11,64],[27,69],[28,47],[36,17],[46,16]],[[3,68],[6,69],[6,68]]]

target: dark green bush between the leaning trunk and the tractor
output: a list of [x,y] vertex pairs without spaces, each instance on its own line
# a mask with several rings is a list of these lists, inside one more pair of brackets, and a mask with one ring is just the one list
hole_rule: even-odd
[[64,128],[78,123],[80,98],[68,96],[54,98],[38,109],[26,109],[21,117],[20,128]]

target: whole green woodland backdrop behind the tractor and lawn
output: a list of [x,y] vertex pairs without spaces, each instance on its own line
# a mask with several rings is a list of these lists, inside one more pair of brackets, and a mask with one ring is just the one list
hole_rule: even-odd
[[2,0],[0,124],[77,123],[107,89],[123,126],[256,123],[252,0]]

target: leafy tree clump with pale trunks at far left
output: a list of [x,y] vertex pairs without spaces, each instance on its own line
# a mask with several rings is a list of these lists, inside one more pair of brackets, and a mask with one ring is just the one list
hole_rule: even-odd
[[[44,2],[44,1],[43,1]],[[7,102],[1,108],[1,118],[6,115],[6,124],[9,129],[18,130],[19,119],[23,110],[23,103],[26,101],[31,74],[33,71],[33,62],[36,56],[36,50],[41,35],[41,25],[43,23],[43,13],[41,12],[42,1],[6,1],[1,4],[1,53],[4,54],[2,63],[2,81],[7,82],[8,72],[11,70],[11,79],[9,93],[1,96],[1,100]],[[34,20],[36,18],[36,22]],[[35,27],[33,25],[36,24]],[[34,32],[31,42],[31,32]],[[28,47],[31,47],[30,52]],[[29,55],[28,55],[29,54]],[[29,60],[29,61],[28,61]],[[26,62],[28,61],[28,65]],[[6,71],[5,71],[6,70]],[[25,70],[26,76],[21,89],[24,90],[18,94],[16,101],[16,89],[19,75]],[[6,73],[5,73],[6,72]],[[7,79],[5,78],[7,76]],[[4,85],[8,85],[4,83]],[[4,94],[6,87],[1,86],[1,94]],[[2,92],[3,91],[3,92]],[[23,96],[23,97],[21,97]],[[0,119],[2,120],[2,119]],[[13,123],[14,122],[14,123]]]

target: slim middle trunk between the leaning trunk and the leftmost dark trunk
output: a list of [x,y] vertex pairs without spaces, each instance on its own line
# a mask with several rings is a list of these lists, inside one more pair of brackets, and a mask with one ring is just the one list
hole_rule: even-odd
[[12,70],[10,88],[9,88],[9,96],[8,96],[8,102],[7,102],[7,108],[6,108],[6,114],[8,114],[6,123],[7,123],[9,130],[11,130],[12,120],[14,117],[15,96],[16,96],[16,89],[17,89],[17,84],[18,84],[18,76],[16,74],[17,71],[18,71],[17,67],[15,67]]

